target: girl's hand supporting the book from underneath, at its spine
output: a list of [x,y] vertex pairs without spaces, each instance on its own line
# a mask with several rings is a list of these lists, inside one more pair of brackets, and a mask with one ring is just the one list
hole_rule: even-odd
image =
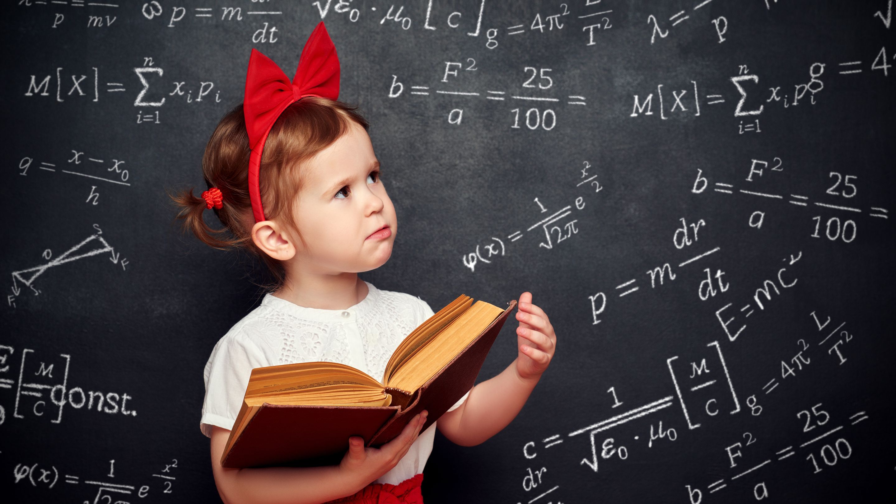
[[392,470],[398,465],[401,457],[405,456],[420,434],[420,429],[426,423],[426,410],[414,416],[408,425],[404,426],[395,439],[384,444],[380,448],[366,448],[364,438],[352,436],[349,438],[349,451],[345,453],[340,462],[340,469],[353,475],[358,482],[358,490],[366,487],[377,478]]

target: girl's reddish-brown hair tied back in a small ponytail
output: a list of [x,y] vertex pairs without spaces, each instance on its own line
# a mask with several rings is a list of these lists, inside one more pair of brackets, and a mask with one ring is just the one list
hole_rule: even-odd
[[[264,217],[284,222],[302,243],[305,240],[292,214],[294,197],[305,183],[301,163],[348,132],[350,121],[367,130],[369,125],[357,110],[358,107],[339,100],[307,96],[283,110],[264,143],[259,169]],[[202,220],[206,203],[202,197],[194,196],[194,187],[168,196],[180,208],[176,219],[183,220],[184,232],[192,230],[196,238],[212,248],[236,248],[261,257],[275,278],[275,284],[266,287],[276,289],[286,280],[283,265],[252,241],[255,220],[249,200],[249,153],[246,117],[240,103],[220,120],[202,155],[206,186],[218,187],[223,196],[221,208],[212,207],[223,228],[212,229]]]

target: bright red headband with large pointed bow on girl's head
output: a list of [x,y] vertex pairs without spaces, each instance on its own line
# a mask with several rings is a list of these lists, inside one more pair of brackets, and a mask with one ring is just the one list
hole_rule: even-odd
[[243,112],[249,133],[249,199],[255,222],[264,221],[262,194],[258,185],[258,170],[262,163],[264,141],[271,126],[289,104],[306,96],[336,100],[339,97],[339,58],[330,34],[318,22],[298,57],[296,77],[290,82],[268,56],[252,49],[246,73],[246,94]]

